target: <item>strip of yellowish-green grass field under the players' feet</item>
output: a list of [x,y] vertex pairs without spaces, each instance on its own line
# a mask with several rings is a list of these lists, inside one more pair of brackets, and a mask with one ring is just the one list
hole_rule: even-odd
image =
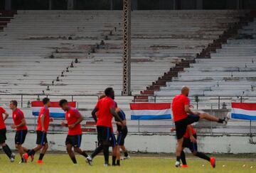
[[[37,158],[38,155],[35,160]],[[77,156],[78,165],[72,164],[68,155],[60,154],[46,155],[44,164],[38,165],[36,162],[18,164],[20,160],[18,156],[16,156],[16,161],[11,163],[6,155],[0,155],[0,172],[256,172],[256,162],[252,161],[238,160],[238,158],[235,160],[232,158],[218,160],[217,157],[217,167],[213,169],[208,162],[194,158],[188,158],[188,168],[174,167],[174,159],[135,156],[122,162],[121,167],[103,167],[103,157],[99,156],[95,158],[93,166],[90,167],[80,156]]]

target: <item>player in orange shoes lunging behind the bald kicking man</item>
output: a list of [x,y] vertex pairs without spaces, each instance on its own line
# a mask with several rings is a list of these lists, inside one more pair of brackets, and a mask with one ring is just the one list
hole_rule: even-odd
[[[176,130],[175,128],[171,128],[171,131]],[[198,145],[196,141],[196,130],[193,128],[193,125],[188,125],[186,128],[186,133],[183,136],[183,145],[182,145],[182,151],[181,151],[181,167],[188,167],[188,164],[186,164],[186,155],[183,149],[187,147],[194,156],[197,156],[203,160],[207,160],[210,162],[210,165],[215,168],[216,160],[215,157],[208,157],[203,152],[198,152]]]

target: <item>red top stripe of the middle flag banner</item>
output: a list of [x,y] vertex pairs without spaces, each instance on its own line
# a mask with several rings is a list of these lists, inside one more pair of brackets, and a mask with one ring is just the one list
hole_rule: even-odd
[[139,103],[130,104],[131,110],[162,110],[171,108],[170,103]]

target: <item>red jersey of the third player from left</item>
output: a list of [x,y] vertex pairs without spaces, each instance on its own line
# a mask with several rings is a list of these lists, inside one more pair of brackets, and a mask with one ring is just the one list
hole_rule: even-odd
[[41,122],[42,115],[45,116],[44,121],[43,121],[43,126],[47,132],[48,128],[49,128],[49,124],[50,124],[50,111],[47,106],[43,106],[43,108],[41,108],[39,115],[38,115],[38,126],[37,126],[36,130],[39,130],[39,131],[43,130],[42,122]]

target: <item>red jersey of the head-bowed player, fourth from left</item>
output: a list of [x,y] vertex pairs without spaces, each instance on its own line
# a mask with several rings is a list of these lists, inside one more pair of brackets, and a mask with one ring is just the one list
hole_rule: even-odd
[[[74,124],[78,121],[80,112],[76,108],[70,107],[65,113],[65,118],[68,121],[68,125]],[[74,128],[68,128],[68,135],[82,135],[82,128],[80,123],[75,125]]]

